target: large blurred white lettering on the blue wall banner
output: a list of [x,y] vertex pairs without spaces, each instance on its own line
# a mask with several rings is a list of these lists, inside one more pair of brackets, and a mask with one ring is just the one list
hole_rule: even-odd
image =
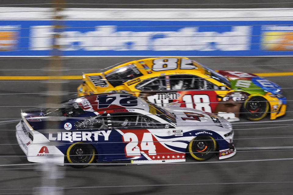
[[[227,32],[204,32],[203,27],[176,31],[117,31],[116,26],[96,26],[93,31],[64,31],[61,49],[72,50],[154,50],[154,51],[237,51],[249,50],[252,26],[226,27]],[[31,26],[30,50],[46,50],[53,41],[52,26]],[[228,30],[230,29],[230,30]],[[122,37],[122,38],[121,38]],[[148,44],[145,44],[148,43]]]

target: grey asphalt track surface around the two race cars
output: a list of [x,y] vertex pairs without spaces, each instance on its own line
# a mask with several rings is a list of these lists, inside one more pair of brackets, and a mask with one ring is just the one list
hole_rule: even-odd
[[[63,60],[63,66],[67,67],[64,75],[99,72],[99,69],[130,59],[141,58],[66,58]],[[191,59],[196,59],[213,69],[250,73],[293,72],[291,57],[205,57]],[[42,70],[46,68],[49,62],[48,59],[2,58],[0,59],[0,64],[5,66],[1,66],[0,75],[44,76],[48,72]],[[7,69],[15,69],[15,71],[7,71]],[[293,76],[267,78],[285,88],[283,91],[289,100],[288,113],[272,122],[269,122],[269,118],[266,117],[260,123],[253,123],[246,119],[241,119],[240,122],[247,123],[234,123],[234,129],[242,129],[235,130],[234,142],[236,147],[241,150],[234,157],[221,161],[214,157],[208,162],[215,163],[203,164],[185,163],[113,167],[93,165],[84,169],[58,166],[60,172],[65,171],[65,176],[63,179],[57,179],[57,186],[67,188],[64,189],[64,194],[290,194],[292,183],[284,182],[293,181],[291,167],[293,160],[227,162],[285,159],[293,156],[293,129],[291,127],[293,121],[282,121],[293,119],[293,92],[291,89]],[[0,107],[1,121],[17,120],[20,118],[20,108],[31,108],[27,106],[37,107],[46,101],[45,96],[34,94],[46,90],[47,83],[42,80],[2,80],[0,83],[0,106],[7,106]],[[70,95],[74,95],[76,87],[80,83],[78,80],[68,80],[63,83],[63,90],[69,93],[72,92]],[[68,97],[69,95],[64,95],[62,99],[67,99]],[[0,144],[17,143],[14,131],[16,123],[2,122],[0,124]],[[0,165],[29,163],[18,145],[1,145],[0,154],[2,156]],[[187,162],[195,161],[188,159]],[[38,169],[36,169],[35,165],[0,168],[2,175],[0,194],[31,194],[32,188],[41,186],[42,172],[37,171]],[[99,188],[76,189],[76,187],[86,186],[99,186]],[[74,189],[70,189],[72,187]]]

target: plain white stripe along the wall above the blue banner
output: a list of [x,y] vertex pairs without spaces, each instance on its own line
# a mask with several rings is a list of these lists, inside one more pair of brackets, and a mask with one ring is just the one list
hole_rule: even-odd
[[[2,20],[50,20],[52,8],[0,7]],[[16,13],[17,12],[17,13]],[[113,9],[66,8],[65,20],[292,20],[292,9]],[[155,17],[154,17],[155,16]],[[155,18],[155,19],[153,19]]]

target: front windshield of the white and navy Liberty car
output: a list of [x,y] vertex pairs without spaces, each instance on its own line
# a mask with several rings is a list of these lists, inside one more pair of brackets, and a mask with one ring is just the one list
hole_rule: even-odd
[[170,122],[173,125],[176,125],[175,116],[171,112],[168,112],[164,108],[162,108],[162,107],[160,107],[158,105],[155,105],[155,104],[151,103],[148,100],[145,100],[145,101],[148,103],[148,105],[150,107],[150,113],[152,113],[154,115],[157,115],[161,119],[163,119],[163,120],[165,120],[167,122]]

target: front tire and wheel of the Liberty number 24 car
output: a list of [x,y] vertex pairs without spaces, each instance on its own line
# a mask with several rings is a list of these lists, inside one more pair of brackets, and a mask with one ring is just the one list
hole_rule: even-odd
[[198,161],[205,161],[215,155],[217,143],[211,136],[198,136],[188,144],[190,157]]

